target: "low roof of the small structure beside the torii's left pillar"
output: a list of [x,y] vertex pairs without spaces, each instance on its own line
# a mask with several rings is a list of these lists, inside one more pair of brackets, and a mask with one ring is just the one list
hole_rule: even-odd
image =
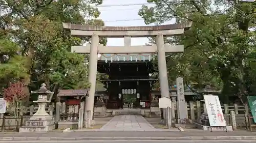
[[57,96],[85,96],[89,92],[89,89],[86,90],[59,90]]

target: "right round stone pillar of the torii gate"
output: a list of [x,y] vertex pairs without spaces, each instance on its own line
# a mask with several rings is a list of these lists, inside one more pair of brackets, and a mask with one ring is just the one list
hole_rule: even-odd
[[156,36],[156,43],[161,97],[170,98],[163,35]]

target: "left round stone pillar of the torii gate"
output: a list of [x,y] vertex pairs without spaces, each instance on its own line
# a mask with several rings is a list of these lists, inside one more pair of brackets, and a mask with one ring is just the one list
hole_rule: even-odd
[[[97,75],[97,64],[98,64],[98,45],[99,45],[99,37],[98,35],[93,35],[91,40],[91,49],[90,49],[90,63],[89,63],[89,77],[88,80],[91,83],[89,96],[86,97],[86,110],[91,111],[91,115],[93,115],[94,108],[94,94],[96,88],[96,75]],[[84,113],[85,114],[85,113]],[[92,120],[93,116],[90,116],[90,120]]]

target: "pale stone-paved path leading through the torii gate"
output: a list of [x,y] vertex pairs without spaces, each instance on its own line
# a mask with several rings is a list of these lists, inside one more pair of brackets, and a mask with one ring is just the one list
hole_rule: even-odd
[[141,115],[119,115],[112,118],[102,131],[153,131],[153,127]]

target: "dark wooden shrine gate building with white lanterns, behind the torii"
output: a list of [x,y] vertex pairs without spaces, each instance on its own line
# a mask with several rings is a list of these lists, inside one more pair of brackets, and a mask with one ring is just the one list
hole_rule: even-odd
[[153,57],[153,54],[101,55],[97,71],[108,75],[101,79],[105,84],[105,94],[108,95],[106,108],[127,107],[129,102],[133,103],[133,108],[150,107],[151,90],[157,80],[150,76],[155,72]]

